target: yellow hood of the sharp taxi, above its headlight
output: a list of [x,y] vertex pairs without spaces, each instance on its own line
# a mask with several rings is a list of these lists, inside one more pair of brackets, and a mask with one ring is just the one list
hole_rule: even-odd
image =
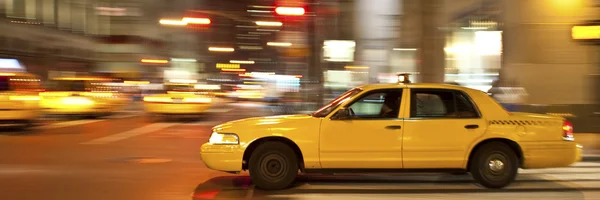
[[[216,131],[226,130],[247,130],[247,129],[269,129],[278,127],[297,128],[298,126],[307,125],[308,121],[313,121],[316,118],[311,115],[278,115],[268,117],[252,117],[226,122],[215,126]],[[305,123],[306,122],[306,123]],[[239,132],[239,131],[236,131]]]

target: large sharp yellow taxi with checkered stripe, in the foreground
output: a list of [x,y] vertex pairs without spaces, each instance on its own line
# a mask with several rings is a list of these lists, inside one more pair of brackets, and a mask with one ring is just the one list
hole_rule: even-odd
[[502,188],[519,168],[566,167],[581,159],[562,117],[510,113],[486,93],[455,85],[365,85],[310,115],[248,118],[213,128],[207,167],[248,170],[262,189],[303,173],[469,172]]

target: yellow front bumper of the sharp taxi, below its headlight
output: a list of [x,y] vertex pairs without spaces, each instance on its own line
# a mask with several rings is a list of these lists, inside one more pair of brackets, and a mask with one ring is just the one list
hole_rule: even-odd
[[239,145],[213,145],[205,143],[201,148],[204,164],[213,170],[224,172],[242,171],[244,151]]

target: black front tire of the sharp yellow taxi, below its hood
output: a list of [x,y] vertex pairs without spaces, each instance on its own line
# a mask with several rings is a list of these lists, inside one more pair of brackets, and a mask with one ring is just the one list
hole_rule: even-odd
[[290,187],[296,180],[298,158],[288,145],[266,142],[252,152],[248,170],[257,188],[280,190]]

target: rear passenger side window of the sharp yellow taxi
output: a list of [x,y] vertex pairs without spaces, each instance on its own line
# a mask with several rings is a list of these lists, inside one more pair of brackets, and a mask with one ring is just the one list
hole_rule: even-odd
[[477,118],[475,105],[463,92],[444,89],[412,89],[410,117]]

